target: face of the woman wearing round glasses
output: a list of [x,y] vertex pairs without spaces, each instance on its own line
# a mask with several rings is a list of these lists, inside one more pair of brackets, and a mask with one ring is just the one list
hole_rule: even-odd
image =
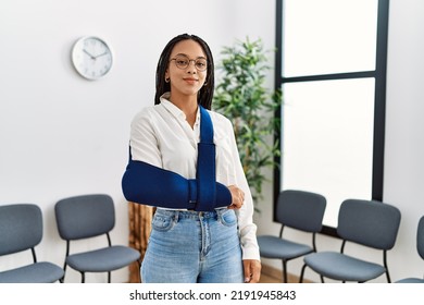
[[171,93],[197,95],[207,77],[205,68],[207,56],[198,42],[188,39],[176,44],[165,72],[165,80],[170,78]]

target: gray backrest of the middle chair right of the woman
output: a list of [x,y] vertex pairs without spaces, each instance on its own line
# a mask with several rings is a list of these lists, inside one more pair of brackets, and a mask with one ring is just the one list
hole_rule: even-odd
[[377,249],[394,247],[400,224],[397,207],[362,199],[341,203],[337,233],[344,240]]

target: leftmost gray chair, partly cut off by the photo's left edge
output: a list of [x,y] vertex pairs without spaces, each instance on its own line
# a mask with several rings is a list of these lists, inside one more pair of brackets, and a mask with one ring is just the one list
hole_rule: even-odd
[[[32,252],[32,264],[0,271],[0,283],[53,283],[62,281],[61,267],[37,261],[35,247],[42,240],[42,213],[34,204],[0,206],[0,256]],[[29,252],[28,252],[29,253]]]

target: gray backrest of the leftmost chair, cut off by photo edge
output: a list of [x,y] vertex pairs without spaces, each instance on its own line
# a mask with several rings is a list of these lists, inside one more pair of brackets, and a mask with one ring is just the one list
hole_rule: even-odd
[[34,204],[0,206],[0,255],[35,247],[42,239],[42,213]]

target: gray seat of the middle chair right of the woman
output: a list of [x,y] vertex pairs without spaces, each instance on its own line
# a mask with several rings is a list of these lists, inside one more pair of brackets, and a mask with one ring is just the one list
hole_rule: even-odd
[[304,257],[304,263],[315,272],[334,280],[365,282],[386,271],[378,264],[335,252],[310,254]]

